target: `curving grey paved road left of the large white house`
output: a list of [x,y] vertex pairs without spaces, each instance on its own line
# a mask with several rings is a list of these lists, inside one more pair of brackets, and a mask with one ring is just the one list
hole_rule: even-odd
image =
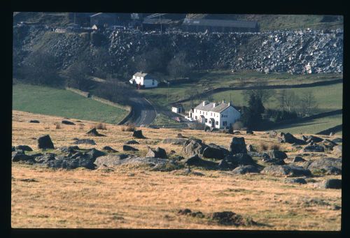
[[129,124],[134,124],[135,126],[149,125],[151,124],[157,112],[151,103],[149,103],[145,98],[130,98],[132,107],[132,116],[129,120],[125,122]]

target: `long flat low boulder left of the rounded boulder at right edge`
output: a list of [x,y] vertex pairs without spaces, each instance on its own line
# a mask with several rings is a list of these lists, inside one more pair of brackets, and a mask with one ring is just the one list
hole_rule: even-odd
[[261,172],[263,174],[269,174],[276,177],[311,176],[310,170],[299,166],[289,165],[270,165],[265,167]]

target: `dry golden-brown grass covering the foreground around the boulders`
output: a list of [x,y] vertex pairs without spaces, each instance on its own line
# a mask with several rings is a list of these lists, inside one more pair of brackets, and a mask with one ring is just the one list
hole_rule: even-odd
[[[40,124],[29,124],[38,119]],[[13,145],[27,144],[34,150],[33,138],[49,134],[55,147],[67,146],[73,137],[88,137],[80,126],[50,128],[59,117],[13,111]],[[22,122],[20,122],[22,121]],[[94,121],[81,121],[87,128]],[[49,127],[49,129],[48,129]],[[97,149],[109,145],[122,151],[132,133],[124,126],[109,124],[106,137],[94,137]],[[146,151],[148,144],[157,144],[169,153],[181,155],[181,146],[162,144],[165,137],[176,137],[172,129],[141,128],[147,137],[134,144]],[[207,144],[228,146],[232,135],[182,130],[187,137],[197,137]],[[276,143],[264,133],[237,135],[247,144],[258,147],[261,142]],[[332,139],[332,137],[328,137]],[[81,144],[79,147],[91,148]],[[281,149],[297,154],[288,144]],[[34,151],[35,152],[35,151]],[[332,151],[329,152],[330,156]],[[321,154],[311,155],[315,159]],[[120,166],[106,170],[51,170],[13,163],[11,225],[13,228],[189,228],[189,229],[262,229],[262,230],[340,230],[341,210],[313,204],[304,207],[303,199],[323,199],[341,205],[341,191],[314,188],[313,184],[284,184],[284,178],[262,174],[232,176],[225,172],[201,170],[204,176],[176,175],[174,172],[153,172],[146,168]],[[341,176],[327,176],[340,178]],[[36,179],[25,182],[18,179]],[[321,181],[324,177],[314,178]],[[177,216],[188,208],[209,214],[234,211],[266,224],[251,227],[209,225],[207,221]]]

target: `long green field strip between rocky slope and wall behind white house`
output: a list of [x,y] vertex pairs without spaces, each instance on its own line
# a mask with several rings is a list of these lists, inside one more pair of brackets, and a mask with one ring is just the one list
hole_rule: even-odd
[[[188,98],[189,91],[193,89],[198,92],[216,87],[248,87],[253,86],[257,82],[265,84],[302,84],[324,80],[334,80],[342,78],[342,74],[327,73],[327,74],[310,74],[310,75],[290,75],[288,73],[272,73],[264,74],[252,70],[232,73],[230,70],[212,70],[212,71],[194,71],[190,75],[188,83],[160,87],[157,89],[147,89],[141,91],[144,96],[154,103],[169,107],[169,103]],[[169,90],[169,96],[168,95]],[[233,91],[232,91],[233,92]],[[242,101],[239,93],[235,92],[235,97],[238,101]],[[226,100],[230,100],[230,91],[225,91],[220,94],[225,94]],[[218,96],[222,100],[222,96]],[[201,98],[206,99],[207,98]],[[234,102],[237,100],[233,100]]]

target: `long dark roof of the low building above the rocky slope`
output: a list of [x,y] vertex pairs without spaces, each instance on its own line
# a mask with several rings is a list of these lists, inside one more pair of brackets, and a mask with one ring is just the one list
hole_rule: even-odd
[[235,21],[235,20],[210,20],[210,19],[191,19],[185,18],[183,25],[188,26],[209,26],[209,27],[236,27],[236,28],[255,28],[258,22],[253,21]]

